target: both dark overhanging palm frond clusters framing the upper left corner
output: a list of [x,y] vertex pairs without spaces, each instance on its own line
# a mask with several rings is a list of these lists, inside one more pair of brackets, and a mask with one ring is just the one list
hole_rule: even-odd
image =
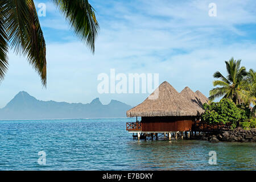
[[[99,26],[88,0],[51,1],[64,14],[78,38],[94,53]],[[46,86],[46,42],[33,0],[0,1],[0,82],[8,68],[9,48],[27,57]]]

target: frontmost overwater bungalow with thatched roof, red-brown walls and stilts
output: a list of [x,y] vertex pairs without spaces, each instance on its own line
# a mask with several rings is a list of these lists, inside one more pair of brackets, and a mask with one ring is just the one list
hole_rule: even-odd
[[177,133],[189,137],[188,131],[203,112],[164,81],[146,100],[126,112],[127,117],[141,117],[141,122],[126,123],[126,130],[137,134],[134,138],[138,139],[141,135],[157,139],[158,134],[171,139],[177,138]]

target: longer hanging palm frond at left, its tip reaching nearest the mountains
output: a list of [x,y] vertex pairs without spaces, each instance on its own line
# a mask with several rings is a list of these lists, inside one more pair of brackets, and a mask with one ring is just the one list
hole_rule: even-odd
[[11,48],[27,56],[46,86],[46,42],[32,0],[9,0],[3,3],[6,30]]

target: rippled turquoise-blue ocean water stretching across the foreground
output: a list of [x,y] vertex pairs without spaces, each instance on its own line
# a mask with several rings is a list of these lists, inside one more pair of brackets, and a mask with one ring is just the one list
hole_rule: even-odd
[[[255,170],[255,143],[133,140],[125,119],[0,121],[0,170]],[[39,164],[39,151],[46,164]],[[209,164],[216,151],[217,164]]]

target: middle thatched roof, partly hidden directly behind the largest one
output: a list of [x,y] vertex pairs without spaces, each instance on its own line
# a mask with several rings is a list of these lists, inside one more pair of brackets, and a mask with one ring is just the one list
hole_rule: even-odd
[[186,86],[181,92],[180,95],[195,105],[198,109],[203,109],[203,103],[201,102],[199,96],[193,92],[188,86]]

